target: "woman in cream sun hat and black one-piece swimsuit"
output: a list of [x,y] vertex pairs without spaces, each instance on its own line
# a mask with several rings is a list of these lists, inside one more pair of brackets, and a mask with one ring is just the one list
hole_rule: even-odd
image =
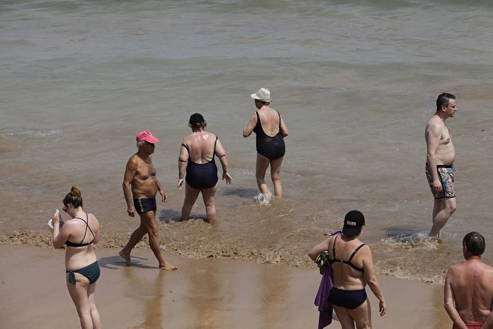
[[285,152],[284,137],[287,136],[287,128],[281,114],[269,107],[272,102],[269,89],[260,88],[259,91],[250,96],[255,100],[255,107],[258,111],[251,116],[243,130],[243,137],[250,136],[252,132],[257,135],[255,177],[258,189],[262,194],[267,195],[269,190],[265,183],[265,172],[270,165],[274,195],[281,197],[281,164]]

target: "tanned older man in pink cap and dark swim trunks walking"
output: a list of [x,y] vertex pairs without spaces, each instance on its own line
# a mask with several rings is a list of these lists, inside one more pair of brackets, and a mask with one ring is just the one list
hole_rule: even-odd
[[[149,235],[149,246],[159,261],[159,268],[176,270],[178,267],[168,263],[159,249],[159,228],[156,222],[156,193],[159,190],[163,202],[168,196],[156,177],[156,168],[152,164],[151,154],[154,153],[154,144],[159,140],[152,136],[150,131],[142,131],[137,135],[138,151],[130,157],[125,168],[123,178],[123,194],[127,201],[127,213],[135,217],[135,212],[141,217],[141,225],[132,233],[130,240],[119,255],[127,265],[132,264],[130,252],[145,234]],[[130,192],[132,186],[132,193]]]

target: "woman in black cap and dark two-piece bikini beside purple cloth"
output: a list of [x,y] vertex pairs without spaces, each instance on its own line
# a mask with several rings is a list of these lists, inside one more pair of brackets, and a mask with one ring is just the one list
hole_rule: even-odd
[[308,253],[315,260],[320,253],[329,252],[334,279],[329,302],[334,307],[342,329],[354,329],[354,325],[357,329],[371,328],[366,284],[380,301],[380,316],[387,312],[387,304],[373,269],[370,247],[358,239],[364,224],[363,214],[357,210],[350,211],[344,218],[342,234],[332,235]]

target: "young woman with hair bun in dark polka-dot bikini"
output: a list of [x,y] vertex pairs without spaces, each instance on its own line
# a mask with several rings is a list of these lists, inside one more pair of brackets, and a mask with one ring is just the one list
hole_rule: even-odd
[[63,199],[64,211],[72,218],[60,228],[61,217],[53,216],[53,247],[65,252],[67,288],[80,318],[82,329],[99,329],[101,321],[94,301],[100,268],[93,244],[99,241],[99,221],[82,209],[82,196],[76,186]]

